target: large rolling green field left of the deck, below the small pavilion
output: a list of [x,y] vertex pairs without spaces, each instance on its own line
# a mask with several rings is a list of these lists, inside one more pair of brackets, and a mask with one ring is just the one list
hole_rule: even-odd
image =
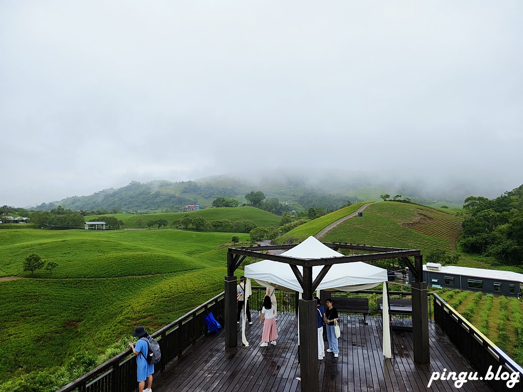
[[[29,278],[0,282],[1,382],[82,350],[103,351],[137,324],[156,330],[207,301],[223,290],[223,244],[232,235],[22,229],[0,236],[1,274]],[[52,275],[21,271],[32,251],[58,262]]]

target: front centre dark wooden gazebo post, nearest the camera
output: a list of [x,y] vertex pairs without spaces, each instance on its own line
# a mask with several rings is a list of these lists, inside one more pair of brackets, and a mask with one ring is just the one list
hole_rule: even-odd
[[300,378],[302,392],[318,392],[318,329],[316,301],[312,299],[312,267],[303,267],[303,299],[299,301]]

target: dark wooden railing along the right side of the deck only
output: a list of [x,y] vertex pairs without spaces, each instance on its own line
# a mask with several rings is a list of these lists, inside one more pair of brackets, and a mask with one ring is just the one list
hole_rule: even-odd
[[[495,316],[493,315],[493,317]],[[488,340],[483,333],[477,330],[437,294],[434,294],[434,319],[436,324],[446,333],[456,348],[477,371],[477,377],[483,377],[483,381],[493,391],[523,391],[523,368],[510,359],[507,354],[492,341]],[[436,369],[436,371],[442,372],[443,369]],[[448,369],[447,371],[451,370]],[[452,369],[452,371],[459,373],[462,370]],[[488,372],[493,374],[488,374]],[[519,382],[508,388],[507,382],[510,381],[509,377],[515,373],[519,374]],[[498,375],[498,379],[496,379],[496,375]],[[491,377],[492,379],[488,379]]]

